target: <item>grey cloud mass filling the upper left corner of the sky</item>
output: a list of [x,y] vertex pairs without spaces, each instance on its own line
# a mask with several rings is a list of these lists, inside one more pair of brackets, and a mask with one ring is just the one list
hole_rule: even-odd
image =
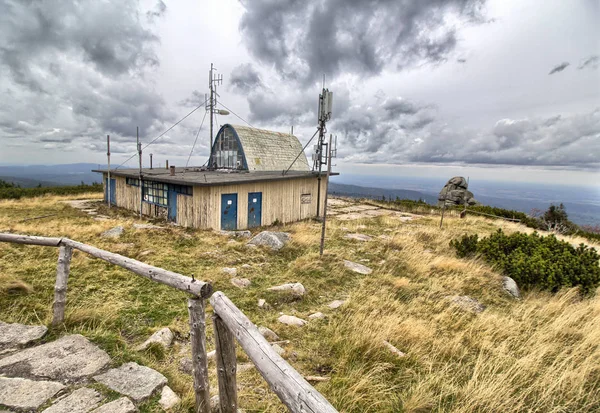
[[158,37],[138,6],[0,0],[0,90],[10,99],[0,138],[90,149],[106,134],[131,142],[136,126],[145,138],[172,119],[146,79]]

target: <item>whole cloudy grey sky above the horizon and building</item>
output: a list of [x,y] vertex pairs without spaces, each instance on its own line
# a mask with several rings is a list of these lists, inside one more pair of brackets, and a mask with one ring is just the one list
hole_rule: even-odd
[[[219,124],[303,142],[325,78],[342,172],[600,181],[598,0],[0,0],[0,163],[105,163],[107,134],[123,162],[211,63]],[[145,153],[185,164],[204,115]]]

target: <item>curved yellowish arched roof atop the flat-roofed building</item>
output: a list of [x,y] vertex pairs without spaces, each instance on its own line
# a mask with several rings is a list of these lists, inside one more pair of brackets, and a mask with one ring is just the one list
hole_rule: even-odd
[[230,124],[223,125],[219,134],[227,127],[233,129],[237,135],[246,161],[244,166],[247,166],[249,171],[286,170],[298,154],[300,156],[290,171],[310,170],[302,144],[294,135]]

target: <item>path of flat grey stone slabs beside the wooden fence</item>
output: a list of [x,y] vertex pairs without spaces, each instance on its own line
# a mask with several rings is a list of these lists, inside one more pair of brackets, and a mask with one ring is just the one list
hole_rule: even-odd
[[[109,355],[82,335],[36,345],[46,331],[0,322],[0,412],[129,413],[164,393],[165,376],[136,363],[110,368]],[[106,400],[88,387],[96,382],[124,397]]]

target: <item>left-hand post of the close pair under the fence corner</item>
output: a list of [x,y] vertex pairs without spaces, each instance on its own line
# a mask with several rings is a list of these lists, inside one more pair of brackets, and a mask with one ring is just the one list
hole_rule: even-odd
[[192,366],[196,413],[210,413],[210,390],[208,382],[208,359],[206,357],[206,321],[204,299],[188,299],[190,314],[190,340],[192,342]]

